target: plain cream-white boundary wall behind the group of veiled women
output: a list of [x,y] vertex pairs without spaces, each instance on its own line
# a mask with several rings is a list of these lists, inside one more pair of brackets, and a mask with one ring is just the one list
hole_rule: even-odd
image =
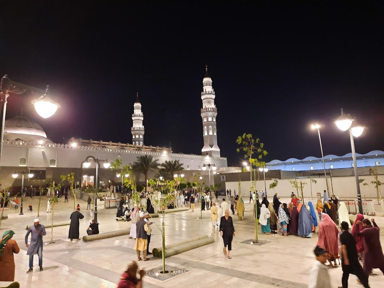
[[[366,183],[368,183],[368,186],[360,184],[360,191],[361,196],[364,198],[364,195],[367,198],[376,198],[377,192],[375,188],[375,184],[371,184],[371,181],[375,180],[375,176],[361,176],[360,179],[366,179]],[[379,181],[384,182],[384,175],[378,175]],[[314,178],[317,183],[312,183],[312,194],[313,197],[316,197],[316,193],[323,194],[323,191],[327,189],[325,178]],[[331,188],[331,179],[327,177],[328,179],[328,185],[329,185],[329,195],[332,195],[332,188]],[[272,199],[272,195],[275,194],[275,192],[278,194],[278,196],[282,197],[289,197],[291,193],[297,195],[296,188],[292,187],[292,184],[289,182],[289,179],[277,179],[279,181],[275,191],[269,189],[269,184],[273,182],[273,180],[266,180],[266,191],[268,193],[268,196]],[[300,178],[297,179],[298,184],[300,185],[301,182],[307,183],[303,186],[303,194],[304,197],[310,197],[311,196],[311,184],[309,178]],[[365,183],[364,182],[364,183]],[[356,182],[355,177],[332,177],[332,184],[333,184],[333,193],[334,195],[338,197],[348,197],[348,198],[357,198],[357,190],[356,190]],[[241,182],[241,194],[243,197],[249,197],[249,191],[251,186],[250,181],[242,181]],[[225,190],[236,189],[238,192],[238,182],[226,182],[225,183]],[[256,190],[259,192],[264,189],[264,180],[256,181]],[[253,191],[252,191],[253,192]],[[300,192],[300,190],[299,190]],[[259,194],[260,195],[260,194]],[[261,195],[260,195],[261,196]],[[381,196],[384,197],[384,185],[381,186]]]

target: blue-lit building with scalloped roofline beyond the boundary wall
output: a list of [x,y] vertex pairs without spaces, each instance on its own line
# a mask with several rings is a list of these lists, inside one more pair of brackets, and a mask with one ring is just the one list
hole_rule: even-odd
[[[352,153],[344,156],[327,155],[324,156],[325,169],[339,169],[353,167]],[[356,163],[358,167],[373,167],[384,165],[384,152],[375,150],[367,154],[356,153]],[[272,160],[266,163],[269,170],[283,171],[306,171],[306,170],[323,170],[322,158],[313,156],[304,159],[290,158],[286,161]]]

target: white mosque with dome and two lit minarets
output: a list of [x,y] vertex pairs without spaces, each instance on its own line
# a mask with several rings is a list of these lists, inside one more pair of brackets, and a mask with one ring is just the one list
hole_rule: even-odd
[[[171,148],[144,144],[144,115],[138,93],[134,102],[132,114],[132,144],[114,143],[111,141],[94,141],[93,139],[71,138],[66,144],[54,143],[49,139],[43,127],[38,123],[21,115],[5,121],[3,151],[1,157],[0,183],[2,189],[9,186],[21,185],[20,179],[13,179],[16,172],[30,171],[34,176],[29,180],[45,180],[51,178],[60,182],[60,175],[75,173],[77,185],[94,185],[94,167],[84,168],[81,163],[88,156],[113,162],[118,158],[123,165],[132,165],[138,156],[151,155],[164,161],[179,160],[182,163],[185,179],[194,181],[195,174],[200,173],[207,178],[208,172],[202,171],[204,164],[215,164],[220,169],[226,169],[227,158],[220,157],[217,146],[217,108],[214,104],[215,91],[207,68],[203,78],[203,92],[201,93],[203,108],[200,110],[203,121],[204,147],[202,155],[174,153]],[[145,110],[145,107],[144,107]],[[116,179],[116,171],[99,169],[99,181],[108,184]],[[154,177],[150,174],[149,177]],[[144,182],[143,175],[136,175],[138,182]],[[121,181],[121,180],[120,180]],[[19,183],[20,182],[20,183]],[[30,183],[31,184],[31,183]],[[213,184],[213,180],[212,180]]]

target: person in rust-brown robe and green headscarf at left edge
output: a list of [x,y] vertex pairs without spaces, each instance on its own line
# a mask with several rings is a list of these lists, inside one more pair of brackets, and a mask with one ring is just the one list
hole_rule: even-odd
[[13,253],[20,252],[12,236],[15,234],[12,230],[5,231],[0,243],[0,281],[15,281],[15,259]]

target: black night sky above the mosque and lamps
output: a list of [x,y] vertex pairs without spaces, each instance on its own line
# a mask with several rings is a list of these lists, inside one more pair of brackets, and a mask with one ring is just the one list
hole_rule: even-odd
[[61,104],[42,119],[31,95],[13,95],[7,118],[23,108],[55,142],[131,142],[139,92],[145,144],[200,154],[208,64],[228,164],[243,132],[266,161],[321,156],[313,121],[324,154],[351,152],[340,108],[366,126],[356,152],[384,150],[383,2],[307,2],[2,1],[0,73],[50,84]]

